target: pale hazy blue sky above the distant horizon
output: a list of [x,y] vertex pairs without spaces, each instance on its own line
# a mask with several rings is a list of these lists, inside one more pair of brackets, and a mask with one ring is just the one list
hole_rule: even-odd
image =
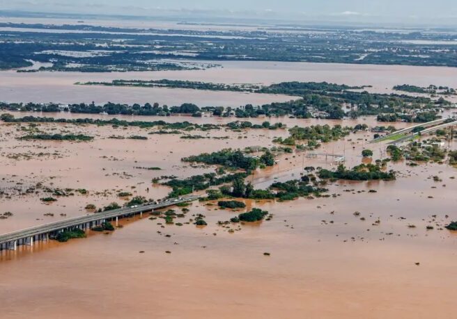
[[0,0],[0,10],[302,22],[457,24],[456,0]]

